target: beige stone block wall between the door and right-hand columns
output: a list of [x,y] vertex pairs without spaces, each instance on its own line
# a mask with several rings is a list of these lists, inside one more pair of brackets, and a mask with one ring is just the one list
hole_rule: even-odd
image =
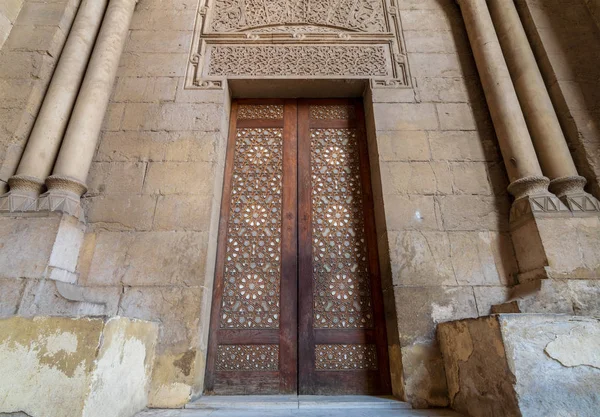
[[514,282],[507,178],[453,0],[398,3],[414,97],[373,93],[404,392],[447,404],[437,323],[489,313]]

